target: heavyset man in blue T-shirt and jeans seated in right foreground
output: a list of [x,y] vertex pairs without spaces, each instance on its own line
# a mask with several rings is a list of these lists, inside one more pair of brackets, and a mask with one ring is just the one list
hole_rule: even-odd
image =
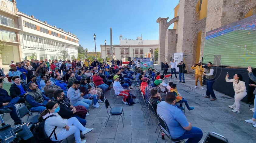
[[157,114],[162,115],[168,128],[171,138],[187,139],[187,143],[199,142],[203,137],[202,130],[192,127],[182,110],[175,106],[176,96],[174,93],[167,93],[165,101],[157,104]]

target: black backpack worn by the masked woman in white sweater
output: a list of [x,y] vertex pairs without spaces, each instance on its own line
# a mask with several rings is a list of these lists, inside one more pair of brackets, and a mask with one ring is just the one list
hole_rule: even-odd
[[50,118],[50,117],[54,117],[56,115],[50,115],[48,117],[46,117],[45,119],[40,119],[38,122],[39,124],[36,125],[35,129],[33,130],[33,136],[36,140],[36,143],[48,143],[51,142],[50,137],[52,136],[52,134],[54,133],[54,137],[57,140],[57,136],[55,134],[55,129],[57,128],[57,126],[55,126],[54,130],[52,131],[51,135],[48,137],[47,134],[44,132],[44,122]]

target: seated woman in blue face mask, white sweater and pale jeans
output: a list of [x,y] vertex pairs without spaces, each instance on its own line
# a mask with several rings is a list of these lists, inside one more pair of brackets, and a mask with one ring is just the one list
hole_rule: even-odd
[[[40,114],[39,119],[46,119],[48,116],[53,115],[45,120],[44,132],[49,137],[53,132],[55,126],[55,133],[50,136],[51,141],[61,141],[70,135],[74,134],[76,143],[85,143],[86,140],[81,141],[80,131],[85,135],[88,131],[81,125],[81,123],[75,117],[69,119],[63,119],[57,113],[60,111],[60,106],[56,101],[50,101],[46,104],[46,109]],[[55,137],[56,135],[56,137]]]

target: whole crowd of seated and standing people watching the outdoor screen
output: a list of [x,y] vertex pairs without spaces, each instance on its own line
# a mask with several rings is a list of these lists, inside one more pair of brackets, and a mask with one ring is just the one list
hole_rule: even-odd
[[[145,102],[150,102],[157,114],[160,114],[169,127],[171,137],[174,139],[186,139],[187,142],[199,142],[202,138],[202,130],[193,127],[189,123],[182,112],[185,110],[182,106],[185,104],[188,110],[193,110],[194,107],[189,106],[189,101],[184,99],[178,92],[177,84],[172,81],[165,83],[166,78],[172,78],[174,72],[176,76],[176,67],[179,68],[179,82],[185,83],[184,73],[185,64],[181,61],[176,66],[174,60],[170,62],[170,67],[167,62],[163,65],[164,73],[156,72],[151,67],[142,70],[139,62],[130,61],[128,65],[123,65],[122,61],[112,61],[112,65],[102,64],[98,61],[77,61],[77,60],[54,60],[51,64],[47,61],[38,62],[31,59],[27,62],[10,63],[9,78],[12,85],[10,86],[10,96],[8,92],[0,88],[0,112],[10,113],[14,124],[20,124],[20,119],[15,110],[16,103],[25,103],[31,112],[40,112],[41,119],[48,119],[45,122],[45,132],[50,135],[54,126],[56,135],[51,136],[52,141],[59,141],[74,134],[75,141],[81,141],[84,135],[93,130],[93,128],[85,128],[86,115],[79,116],[76,113],[77,106],[83,106],[89,109],[89,106],[99,108],[99,103],[103,102],[107,90],[113,87],[116,96],[124,96],[122,102],[128,104],[129,96],[136,98],[130,93],[134,87],[132,83],[140,87]],[[48,64],[47,64],[48,63]],[[137,64],[136,64],[137,63]],[[135,64],[133,66],[133,64]],[[167,75],[168,69],[171,68],[171,74]],[[215,69],[212,63],[207,66],[202,66],[198,62],[196,66],[191,67],[195,70],[195,87],[197,88],[198,79],[201,89],[204,89],[202,84],[202,76],[205,77],[206,96],[210,101],[215,101],[217,98],[213,91],[213,83],[215,81]],[[251,67],[248,67],[248,74],[251,80],[256,82],[256,77],[251,72]],[[245,82],[240,74],[235,74],[233,79],[229,79],[227,74],[225,80],[233,83],[235,96],[234,104],[228,107],[232,108],[232,112],[240,113],[240,100],[246,95]],[[0,86],[2,87],[2,79],[5,74],[0,70]],[[150,80],[152,79],[152,81]],[[136,80],[136,81],[134,81]],[[112,87],[111,87],[112,84]],[[249,86],[256,86],[250,84]],[[256,89],[254,91],[256,97]],[[256,98],[254,99],[254,107],[256,106]],[[255,109],[252,119],[245,122],[252,123],[256,127],[256,112]],[[49,117],[50,116],[50,117]],[[68,133],[67,133],[68,131]],[[56,139],[57,138],[57,139]]]

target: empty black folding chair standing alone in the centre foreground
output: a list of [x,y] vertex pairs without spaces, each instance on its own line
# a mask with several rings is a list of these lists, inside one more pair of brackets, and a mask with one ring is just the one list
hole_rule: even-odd
[[[108,124],[108,122],[109,122],[110,116],[115,116],[115,115],[121,116],[121,117],[122,117],[122,122],[123,122],[123,119],[124,119],[124,112],[123,112],[123,108],[122,108],[122,107],[113,107],[113,108],[111,108],[111,106],[110,106],[110,104],[109,104],[109,100],[108,100],[106,97],[104,97],[104,104],[105,104],[105,106],[106,106],[106,110],[107,110],[107,113],[108,113],[108,115],[109,115],[105,127],[107,126],[107,124]],[[108,111],[108,107],[110,107],[110,112]],[[122,113],[123,113],[123,116],[122,116]],[[124,127],[124,125],[123,125],[123,127]]]

